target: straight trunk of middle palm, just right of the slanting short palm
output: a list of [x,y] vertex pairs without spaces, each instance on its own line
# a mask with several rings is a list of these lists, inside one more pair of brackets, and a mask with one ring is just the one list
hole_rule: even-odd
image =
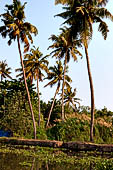
[[66,64],[67,64],[67,55],[65,56],[64,61],[64,75],[63,75],[63,83],[62,83],[62,120],[64,121],[64,86],[65,86],[65,73],[66,73]]

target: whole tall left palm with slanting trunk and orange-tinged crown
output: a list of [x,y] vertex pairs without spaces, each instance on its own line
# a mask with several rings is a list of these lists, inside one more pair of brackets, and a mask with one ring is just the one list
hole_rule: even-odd
[[31,25],[30,23],[25,22],[25,13],[24,13],[25,4],[26,3],[24,3],[24,5],[21,5],[21,2],[19,0],[13,0],[13,4],[5,6],[6,12],[4,14],[1,14],[2,17],[1,21],[4,23],[4,25],[0,27],[0,33],[3,38],[6,38],[6,36],[9,37],[8,45],[11,45],[12,40],[17,39],[21,66],[23,70],[23,77],[24,77],[25,87],[28,95],[30,111],[33,119],[34,137],[36,139],[35,118],[32,109],[30,94],[26,82],[24,63],[23,63],[22,53],[20,48],[20,40],[21,42],[24,43],[24,52],[27,52],[30,46],[28,39],[31,41],[31,43],[33,42],[31,34],[33,33],[34,35],[37,35],[37,29],[35,26]]

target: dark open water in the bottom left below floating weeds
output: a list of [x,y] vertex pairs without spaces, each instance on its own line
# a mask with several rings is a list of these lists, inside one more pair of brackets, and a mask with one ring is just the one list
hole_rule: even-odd
[[0,153],[0,170],[73,170],[71,164],[45,163],[36,158],[12,153]]

